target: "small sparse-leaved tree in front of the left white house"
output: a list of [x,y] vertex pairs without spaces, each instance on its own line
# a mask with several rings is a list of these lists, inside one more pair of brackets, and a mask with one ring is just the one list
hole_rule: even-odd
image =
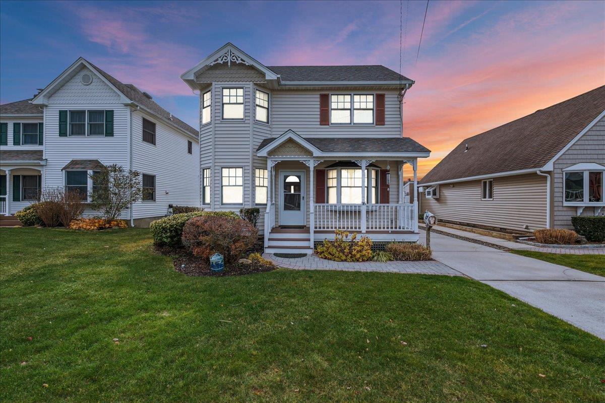
[[139,201],[143,195],[138,171],[126,171],[122,166],[113,164],[102,167],[90,177],[93,179],[90,207],[102,214],[105,224],[119,218],[123,210]]

